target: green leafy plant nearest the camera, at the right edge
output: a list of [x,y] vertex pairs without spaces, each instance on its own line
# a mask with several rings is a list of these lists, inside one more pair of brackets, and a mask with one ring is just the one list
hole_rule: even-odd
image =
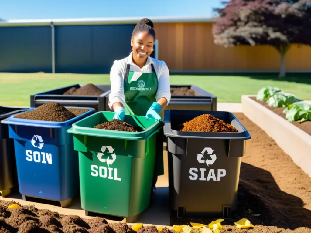
[[311,104],[297,102],[288,105],[283,113],[286,114],[287,121],[297,121],[299,123],[311,120]]

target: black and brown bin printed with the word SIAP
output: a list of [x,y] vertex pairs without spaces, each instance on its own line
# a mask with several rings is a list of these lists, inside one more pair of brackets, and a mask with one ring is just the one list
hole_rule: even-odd
[[[178,131],[202,114],[230,123],[239,132]],[[168,110],[164,117],[169,165],[169,198],[177,217],[230,218],[237,205],[241,157],[248,131],[230,112]]]

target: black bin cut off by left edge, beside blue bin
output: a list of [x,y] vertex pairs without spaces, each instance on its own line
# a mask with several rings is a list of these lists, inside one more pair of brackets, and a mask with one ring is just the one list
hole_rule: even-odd
[[[28,108],[0,106],[0,121]],[[5,197],[13,188],[18,190],[14,143],[8,125],[0,123],[0,194]]]

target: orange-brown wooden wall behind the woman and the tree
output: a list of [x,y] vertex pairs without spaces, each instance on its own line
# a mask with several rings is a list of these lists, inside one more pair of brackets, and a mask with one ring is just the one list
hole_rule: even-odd
[[[159,59],[174,71],[279,70],[271,46],[225,48],[214,44],[212,23],[156,23]],[[311,70],[311,47],[293,45],[286,55],[289,71]]]

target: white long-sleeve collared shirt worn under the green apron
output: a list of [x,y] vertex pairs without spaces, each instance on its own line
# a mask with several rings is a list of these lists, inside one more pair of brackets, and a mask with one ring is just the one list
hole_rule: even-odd
[[115,102],[120,102],[125,105],[125,96],[124,96],[124,76],[126,72],[127,64],[130,64],[130,71],[150,73],[152,72],[151,65],[153,64],[156,75],[158,77],[158,91],[156,93],[156,101],[164,97],[169,103],[171,99],[170,87],[169,87],[169,68],[164,61],[159,61],[152,57],[147,58],[146,65],[142,68],[137,66],[132,62],[132,53],[123,58],[122,60],[114,61],[114,64],[110,70],[110,84],[111,84],[111,93],[109,94],[109,108],[112,109],[112,105]]

